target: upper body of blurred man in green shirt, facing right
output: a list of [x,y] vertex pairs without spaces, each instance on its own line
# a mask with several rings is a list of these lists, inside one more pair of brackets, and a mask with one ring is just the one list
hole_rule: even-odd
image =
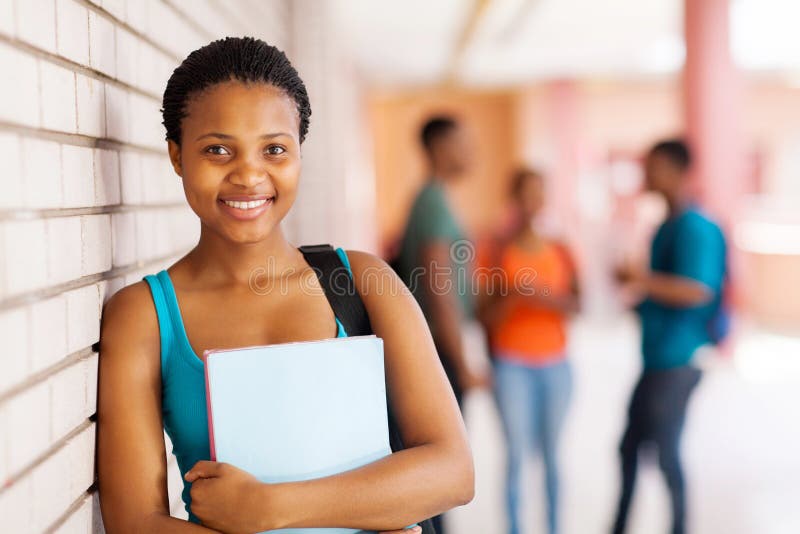
[[468,367],[461,327],[474,319],[475,294],[471,287],[474,247],[449,205],[447,189],[470,165],[466,133],[449,117],[430,119],[422,128],[431,177],[417,194],[405,229],[399,270],[417,298],[431,327],[442,365],[456,398],[483,386],[487,378]]

